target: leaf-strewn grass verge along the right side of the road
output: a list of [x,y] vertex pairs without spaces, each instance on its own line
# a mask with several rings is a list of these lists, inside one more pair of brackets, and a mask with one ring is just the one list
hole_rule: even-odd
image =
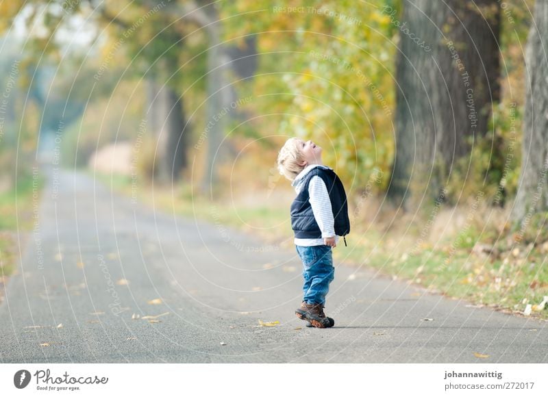
[[[111,185],[110,176],[98,175],[98,178]],[[112,188],[130,194],[131,180],[129,177],[114,176]],[[282,248],[292,248],[288,203],[285,201],[276,207],[246,205],[238,203],[237,199],[234,202],[211,203],[208,197],[192,192],[188,185],[179,186],[175,191],[154,188],[154,201],[151,194],[142,195],[140,199],[149,205],[154,203],[158,209],[244,229]],[[464,209],[440,211],[450,213],[453,219],[458,218],[459,211],[462,212],[461,216],[466,217]],[[436,222],[440,224],[447,222],[447,216],[441,213],[438,218]],[[520,315],[531,304],[531,317],[547,320],[548,310],[536,310],[538,303],[548,296],[548,266],[545,264],[548,233],[543,233],[547,229],[541,227],[545,226],[544,222],[531,222],[530,229],[533,230],[525,229],[522,240],[516,243],[509,242],[509,231],[483,225],[482,219],[486,216],[482,212],[478,211],[475,218],[473,225],[464,228],[456,226],[447,232],[444,229],[441,235],[436,230],[430,230],[429,235],[435,239],[435,244],[411,244],[419,239],[422,225],[425,224],[422,218],[414,220],[416,225],[412,225],[410,230],[413,232],[410,234],[403,227],[388,229],[385,233],[386,226],[378,221],[353,221],[352,233],[347,238],[348,249],[336,249],[334,259],[354,266],[365,263],[381,274],[406,279],[427,288],[429,292],[506,313]],[[545,220],[547,217],[537,218]],[[412,222],[405,218],[397,219],[406,227]],[[262,230],[253,225],[270,226]],[[435,225],[431,227],[436,229]],[[474,248],[477,243],[492,245],[496,252],[477,252]],[[345,248],[342,240],[338,246]]]

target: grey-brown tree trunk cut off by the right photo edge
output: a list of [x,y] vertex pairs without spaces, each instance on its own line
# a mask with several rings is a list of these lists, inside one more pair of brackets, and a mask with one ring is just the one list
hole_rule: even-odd
[[526,226],[548,209],[548,0],[537,0],[525,51],[523,147],[512,220]]

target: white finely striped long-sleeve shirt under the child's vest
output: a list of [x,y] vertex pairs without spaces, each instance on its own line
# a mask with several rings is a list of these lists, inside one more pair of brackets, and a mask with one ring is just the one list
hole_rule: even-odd
[[[332,169],[328,166],[322,166],[319,164],[310,164],[306,166],[299,175],[293,181],[292,186],[295,187],[295,192],[299,194],[301,189],[304,188],[303,177],[315,167],[323,167],[326,169]],[[321,238],[295,238],[295,245],[298,246],[316,246],[323,245],[324,238],[335,237],[335,242],[338,243],[338,236],[335,235],[335,220],[333,218],[333,211],[331,208],[331,200],[329,200],[329,193],[327,187],[321,177],[315,176],[310,179],[308,183],[308,195],[310,200],[310,206],[314,213],[314,219],[321,230]]]

